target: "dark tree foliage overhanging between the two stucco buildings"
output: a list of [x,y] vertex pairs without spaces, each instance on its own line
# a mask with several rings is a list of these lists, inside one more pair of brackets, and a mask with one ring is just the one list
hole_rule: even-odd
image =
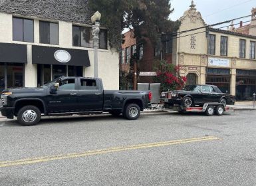
[[170,21],[174,11],[169,0],[90,0],[90,9],[102,13],[110,47],[120,49],[124,28],[133,28],[135,37],[147,37],[154,44],[161,33],[176,31],[180,22]]

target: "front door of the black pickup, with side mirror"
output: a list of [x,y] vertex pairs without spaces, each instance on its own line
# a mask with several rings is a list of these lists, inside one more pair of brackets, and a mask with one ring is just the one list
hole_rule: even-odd
[[76,78],[66,78],[59,82],[59,90],[56,94],[47,96],[50,113],[76,112],[77,106],[77,82]]

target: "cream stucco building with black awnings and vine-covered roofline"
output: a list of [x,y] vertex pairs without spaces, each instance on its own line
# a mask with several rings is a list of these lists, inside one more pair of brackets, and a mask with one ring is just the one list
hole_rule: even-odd
[[[36,1],[1,1],[0,92],[41,86],[59,76],[94,76],[88,2]],[[98,77],[105,89],[119,88],[118,61],[101,27]]]

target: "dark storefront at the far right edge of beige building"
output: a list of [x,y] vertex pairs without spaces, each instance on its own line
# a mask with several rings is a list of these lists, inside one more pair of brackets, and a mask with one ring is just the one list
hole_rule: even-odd
[[253,93],[256,93],[256,70],[237,70],[235,99],[253,100]]

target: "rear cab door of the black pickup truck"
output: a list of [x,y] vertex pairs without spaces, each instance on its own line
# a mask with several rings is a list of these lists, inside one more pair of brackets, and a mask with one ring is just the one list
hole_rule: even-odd
[[78,78],[78,106],[80,112],[102,111],[103,88],[94,78]]

